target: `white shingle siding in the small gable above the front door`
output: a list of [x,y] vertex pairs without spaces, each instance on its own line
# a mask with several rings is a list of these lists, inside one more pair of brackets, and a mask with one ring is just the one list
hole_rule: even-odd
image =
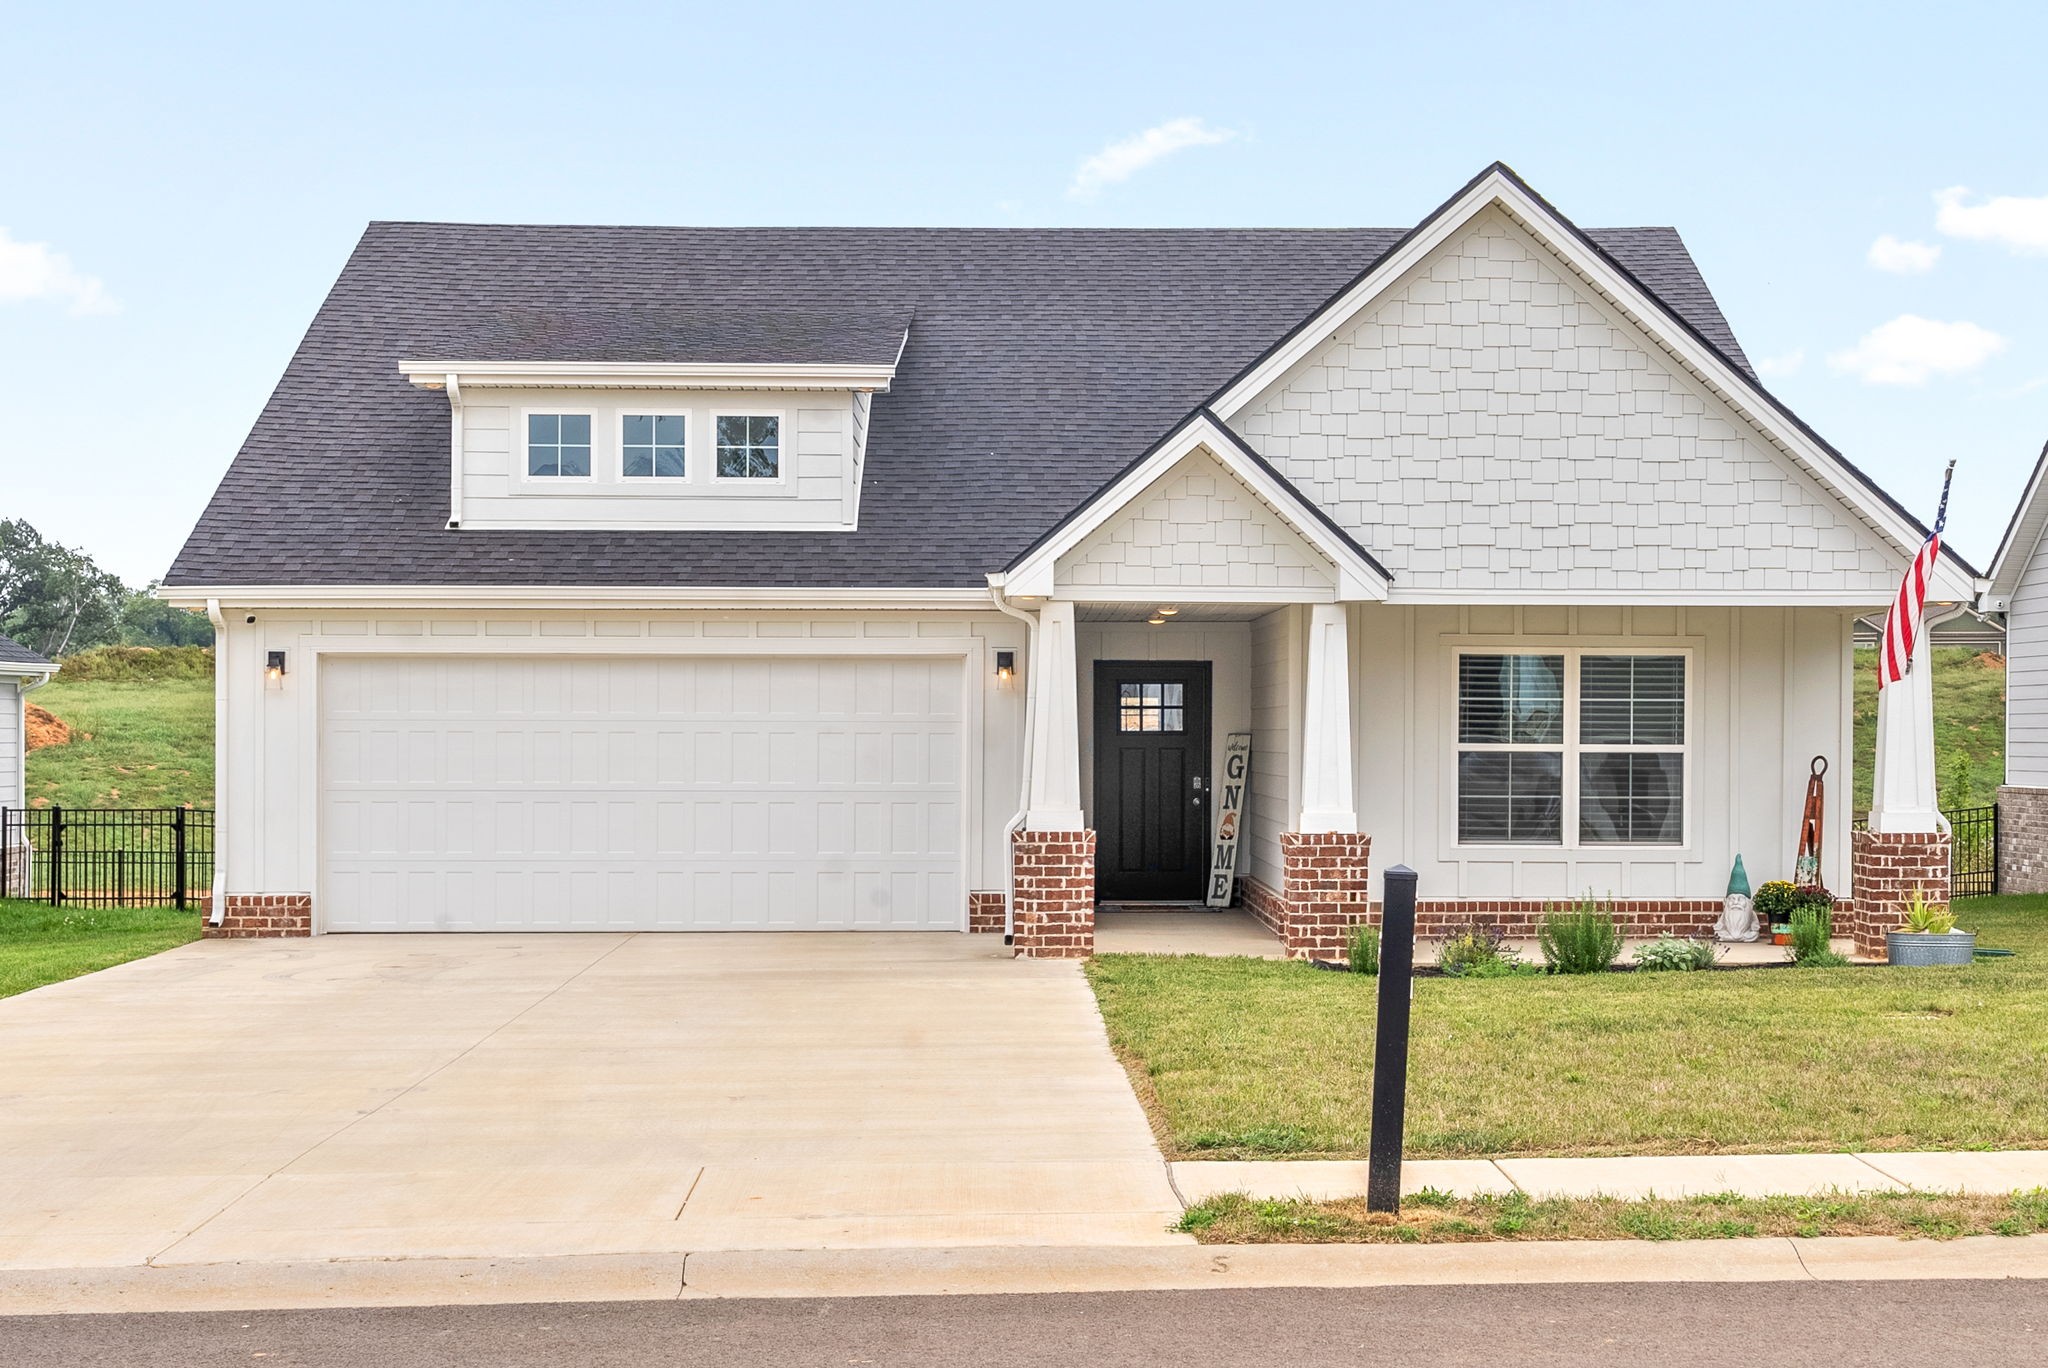
[[1329,588],[1335,569],[1208,453],[1194,453],[1055,567],[1065,588]]

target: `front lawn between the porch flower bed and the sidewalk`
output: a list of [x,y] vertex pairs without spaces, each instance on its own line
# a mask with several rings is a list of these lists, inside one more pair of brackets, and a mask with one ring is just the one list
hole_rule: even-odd
[[[2048,1147],[2048,897],[1958,903],[1970,969],[1419,979],[1407,1153]],[[1090,981],[1174,1157],[1362,1157],[1374,979],[1108,954]]]

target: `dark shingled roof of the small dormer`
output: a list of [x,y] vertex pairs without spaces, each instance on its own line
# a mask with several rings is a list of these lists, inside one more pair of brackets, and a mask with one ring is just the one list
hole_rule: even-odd
[[453,319],[408,360],[895,365],[909,309],[516,307]]

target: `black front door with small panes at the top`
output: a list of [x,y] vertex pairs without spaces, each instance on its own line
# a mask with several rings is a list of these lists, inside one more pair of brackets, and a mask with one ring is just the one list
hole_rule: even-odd
[[1096,895],[1200,899],[1208,809],[1208,661],[1098,661]]

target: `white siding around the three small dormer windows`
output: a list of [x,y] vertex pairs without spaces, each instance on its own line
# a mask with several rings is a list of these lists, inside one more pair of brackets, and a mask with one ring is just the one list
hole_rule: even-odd
[[[528,479],[524,414],[590,414],[590,479]],[[625,414],[686,414],[682,479],[621,475]],[[715,479],[719,414],[782,420],[780,479]],[[463,403],[465,528],[852,530],[860,477],[850,393],[475,389]]]

